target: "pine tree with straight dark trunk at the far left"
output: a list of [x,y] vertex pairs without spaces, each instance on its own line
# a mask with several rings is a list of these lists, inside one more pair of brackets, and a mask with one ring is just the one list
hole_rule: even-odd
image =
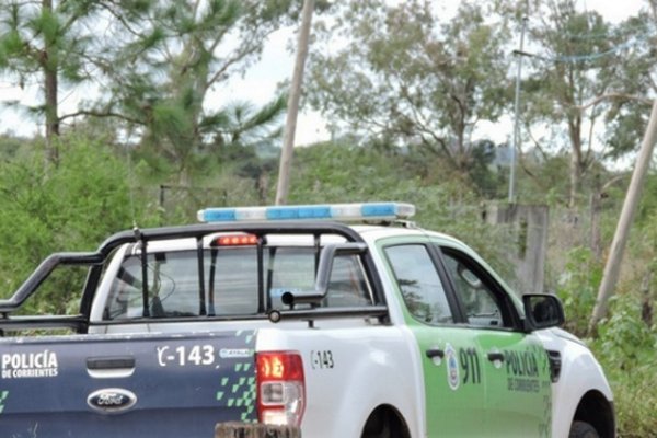
[[49,162],[59,157],[54,138],[59,135],[62,82],[72,85],[89,78],[85,24],[94,4],[93,0],[13,0],[0,8],[0,72],[21,88],[41,83],[43,103],[30,110],[44,116]]

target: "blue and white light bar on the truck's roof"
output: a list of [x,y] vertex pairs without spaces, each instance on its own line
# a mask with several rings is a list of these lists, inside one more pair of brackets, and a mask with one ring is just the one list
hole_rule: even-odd
[[254,222],[267,220],[380,221],[408,219],[415,206],[402,203],[326,204],[301,206],[206,208],[200,222]]

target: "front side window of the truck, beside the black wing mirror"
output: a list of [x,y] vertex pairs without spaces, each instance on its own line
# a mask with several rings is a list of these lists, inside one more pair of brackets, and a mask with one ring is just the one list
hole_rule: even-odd
[[469,324],[486,327],[510,325],[510,319],[505,319],[504,304],[494,288],[486,283],[483,275],[477,274],[483,268],[477,268],[477,265],[465,256],[451,252],[443,252],[443,260]]

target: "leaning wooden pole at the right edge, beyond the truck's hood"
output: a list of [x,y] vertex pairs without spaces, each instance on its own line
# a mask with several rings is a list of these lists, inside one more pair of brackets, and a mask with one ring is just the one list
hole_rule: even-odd
[[604,265],[602,281],[600,283],[600,289],[598,290],[598,299],[596,300],[593,313],[589,321],[589,335],[593,334],[598,322],[607,314],[609,298],[618,283],[623,252],[625,251],[627,235],[630,234],[630,227],[632,226],[644,180],[650,164],[655,140],[657,140],[657,100],[653,103],[650,119],[648,120],[638,157],[636,158],[636,164],[634,166],[634,172],[632,173],[630,187],[627,187],[627,195],[623,203],[619,224],[616,226],[616,231],[613,235],[613,241],[611,242],[609,258]]

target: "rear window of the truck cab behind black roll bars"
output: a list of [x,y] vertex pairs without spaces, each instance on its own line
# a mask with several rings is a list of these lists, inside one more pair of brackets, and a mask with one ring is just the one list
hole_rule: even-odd
[[[151,318],[247,315],[257,313],[258,264],[255,247],[210,249],[204,252],[200,295],[196,251],[151,253],[147,278]],[[265,247],[262,275],[268,309],[285,309],[286,291],[312,290],[316,255],[312,247]],[[143,316],[141,256],[127,256],[114,279],[105,320]],[[371,289],[356,255],[337,256],[322,307],[369,306]]]

